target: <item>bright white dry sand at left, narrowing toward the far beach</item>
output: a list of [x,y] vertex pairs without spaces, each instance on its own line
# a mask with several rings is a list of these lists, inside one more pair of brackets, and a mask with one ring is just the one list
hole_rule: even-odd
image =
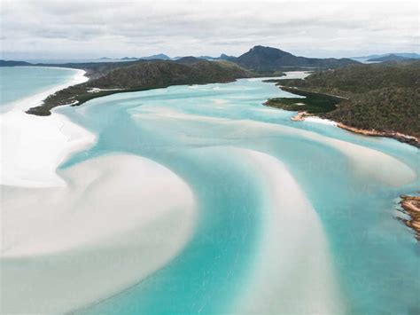
[[[63,69],[63,68],[60,68]],[[53,113],[48,121],[25,113],[44,98],[73,84],[86,82],[85,71],[72,69],[74,76],[64,84],[18,99],[0,114],[0,185],[47,187],[63,186],[58,165],[74,151],[90,146],[96,136],[74,124],[63,114]],[[25,128],[22,128],[22,127]],[[4,154],[7,152],[7,154]]]

